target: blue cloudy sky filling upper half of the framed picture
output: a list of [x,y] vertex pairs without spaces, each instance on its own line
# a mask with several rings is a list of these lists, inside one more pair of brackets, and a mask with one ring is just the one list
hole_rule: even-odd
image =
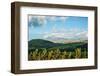
[[87,39],[88,17],[28,16],[28,40]]

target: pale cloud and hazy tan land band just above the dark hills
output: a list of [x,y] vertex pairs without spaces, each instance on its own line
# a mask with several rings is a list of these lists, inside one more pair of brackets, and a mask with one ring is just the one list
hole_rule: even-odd
[[88,40],[87,31],[84,32],[52,32],[45,34],[44,40],[49,40],[55,43],[72,43]]

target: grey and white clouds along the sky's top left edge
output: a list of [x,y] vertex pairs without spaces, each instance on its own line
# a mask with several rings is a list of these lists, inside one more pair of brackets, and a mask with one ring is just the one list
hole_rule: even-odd
[[59,16],[29,16],[28,17],[28,25],[32,27],[44,26],[46,25],[47,21],[55,22],[57,20],[65,21],[68,17],[59,17]]

